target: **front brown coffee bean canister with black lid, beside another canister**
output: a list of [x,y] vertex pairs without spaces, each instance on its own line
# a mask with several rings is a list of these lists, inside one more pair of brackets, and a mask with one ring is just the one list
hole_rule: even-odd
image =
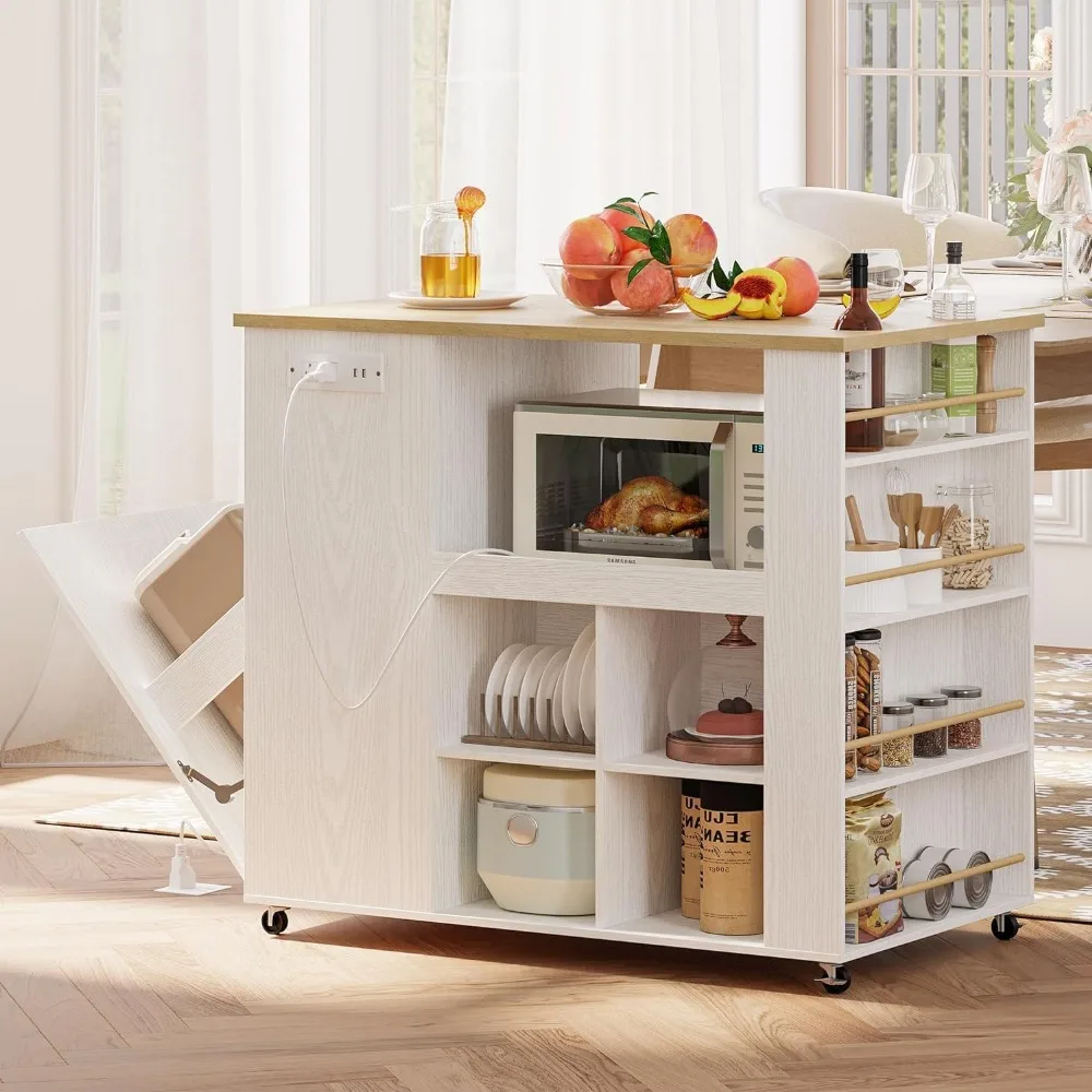
[[762,931],[762,786],[701,783],[701,930]]

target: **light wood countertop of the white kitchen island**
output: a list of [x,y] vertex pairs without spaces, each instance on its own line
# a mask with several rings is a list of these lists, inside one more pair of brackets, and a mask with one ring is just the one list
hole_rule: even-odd
[[[981,304],[977,319],[956,322],[934,321],[926,317],[923,307],[904,305],[885,321],[882,330],[852,333],[831,329],[838,312],[829,306],[816,307],[797,319],[775,322],[736,318],[710,322],[685,310],[650,317],[589,314],[556,296],[527,296],[513,307],[491,311],[424,310],[402,307],[385,299],[330,304],[236,314],[235,324],[278,330],[841,353],[980,333],[1030,330],[1045,322],[1042,311],[1012,313],[992,304]],[[1092,334],[1092,327],[1089,332]]]

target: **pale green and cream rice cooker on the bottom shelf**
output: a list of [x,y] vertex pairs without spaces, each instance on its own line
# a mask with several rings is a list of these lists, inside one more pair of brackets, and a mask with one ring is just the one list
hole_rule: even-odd
[[594,771],[486,767],[477,866],[501,910],[594,914]]

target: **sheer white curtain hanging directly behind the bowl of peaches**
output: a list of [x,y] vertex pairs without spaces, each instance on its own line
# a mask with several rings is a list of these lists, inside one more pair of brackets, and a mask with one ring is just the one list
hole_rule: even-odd
[[758,193],[804,182],[803,27],[803,0],[451,0],[443,191],[488,197],[484,282],[548,290],[561,228],[643,190],[776,257]]

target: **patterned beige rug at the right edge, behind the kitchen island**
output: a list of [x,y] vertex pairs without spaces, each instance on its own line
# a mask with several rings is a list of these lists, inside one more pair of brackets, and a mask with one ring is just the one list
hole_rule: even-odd
[[1035,902],[1092,924],[1092,652],[1035,650]]

